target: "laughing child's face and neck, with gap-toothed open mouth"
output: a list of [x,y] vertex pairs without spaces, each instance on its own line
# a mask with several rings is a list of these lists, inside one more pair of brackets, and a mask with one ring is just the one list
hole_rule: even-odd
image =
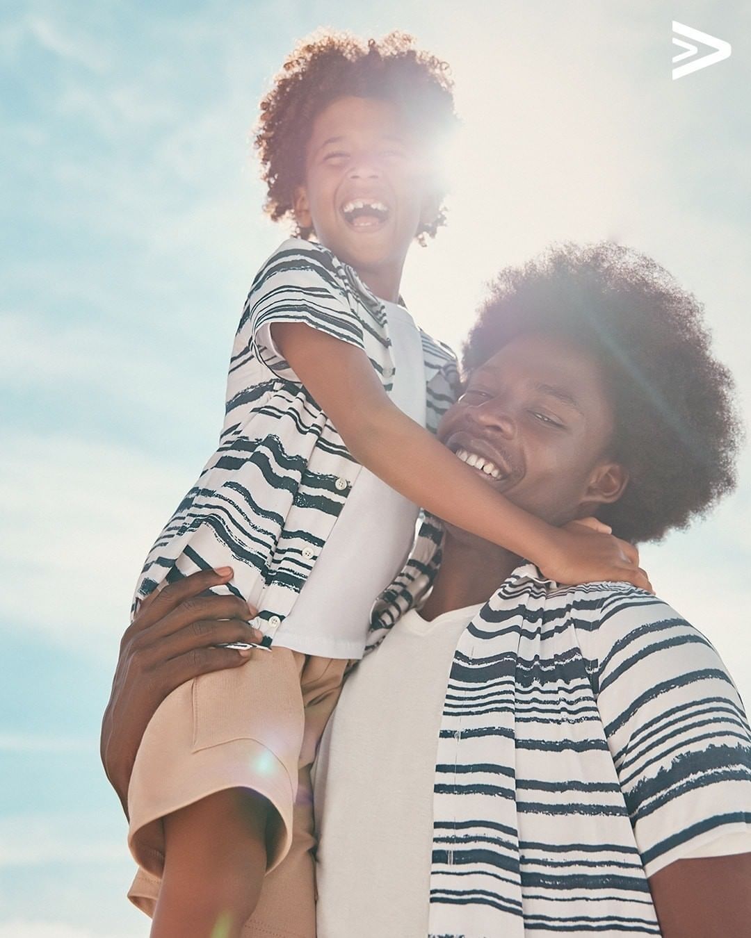
[[376,295],[390,299],[421,221],[437,211],[428,189],[424,155],[396,106],[338,98],[315,118],[295,213]]

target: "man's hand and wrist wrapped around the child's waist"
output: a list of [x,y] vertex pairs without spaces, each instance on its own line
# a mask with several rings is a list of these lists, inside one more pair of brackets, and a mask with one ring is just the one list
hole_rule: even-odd
[[261,641],[248,619],[256,611],[238,597],[201,596],[232,579],[232,570],[202,570],[152,593],[120,642],[112,693],[101,724],[101,762],[128,814],[135,755],[157,707],[185,681],[244,664],[251,650],[214,647]]

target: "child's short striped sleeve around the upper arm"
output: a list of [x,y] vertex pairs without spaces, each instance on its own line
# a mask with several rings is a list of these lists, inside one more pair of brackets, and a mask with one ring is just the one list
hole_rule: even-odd
[[274,323],[303,323],[364,351],[362,324],[329,251],[290,238],[253,280],[238,328],[238,358],[251,350],[287,381],[299,378],[275,345]]

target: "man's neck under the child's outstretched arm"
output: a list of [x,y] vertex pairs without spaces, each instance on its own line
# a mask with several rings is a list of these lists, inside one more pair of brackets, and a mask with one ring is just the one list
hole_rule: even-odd
[[436,582],[421,615],[431,620],[485,602],[518,565],[519,558],[502,547],[465,532],[454,537],[447,531]]

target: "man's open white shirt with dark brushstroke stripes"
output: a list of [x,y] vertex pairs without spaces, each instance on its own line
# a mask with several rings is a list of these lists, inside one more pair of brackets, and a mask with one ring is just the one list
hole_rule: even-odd
[[[419,602],[428,522],[374,618]],[[462,633],[437,739],[429,933],[659,935],[647,877],[751,836],[751,732],[713,646],[624,583],[518,567]]]

